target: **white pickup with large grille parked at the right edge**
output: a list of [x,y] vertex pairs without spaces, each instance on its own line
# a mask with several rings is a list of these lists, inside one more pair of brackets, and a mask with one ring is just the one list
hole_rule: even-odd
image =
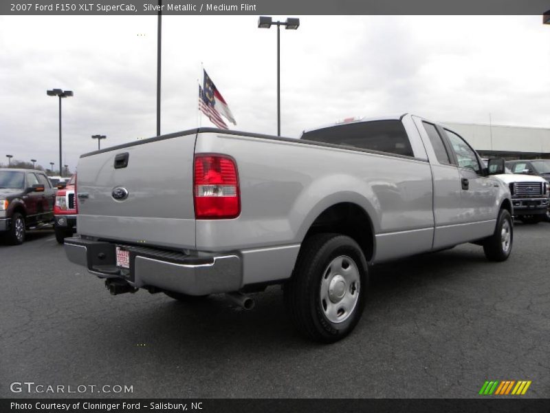
[[[483,160],[487,162],[487,160]],[[509,186],[514,218],[525,224],[538,224],[547,218],[550,207],[550,184],[540,176],[512,173],[495,175]]]

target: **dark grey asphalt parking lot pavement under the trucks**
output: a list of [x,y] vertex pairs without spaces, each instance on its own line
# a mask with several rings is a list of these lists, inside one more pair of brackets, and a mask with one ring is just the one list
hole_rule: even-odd
[[[550,396],[550,224],[516,224],[507,262],[464,245],[373,268],[344,341],[302,339],[280,288],[256,308],[113,297],[52,231],[0,244],[0,397],[470,398],[485,380]],[[14,394],[10,383],[132,385],[131,394]]]

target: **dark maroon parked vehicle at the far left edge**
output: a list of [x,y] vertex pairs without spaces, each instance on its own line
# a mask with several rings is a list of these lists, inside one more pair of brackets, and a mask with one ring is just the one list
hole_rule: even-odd
[[55,190],[42,171],[0,169],[0,233],[23,244],[25,231],[54,221]]

